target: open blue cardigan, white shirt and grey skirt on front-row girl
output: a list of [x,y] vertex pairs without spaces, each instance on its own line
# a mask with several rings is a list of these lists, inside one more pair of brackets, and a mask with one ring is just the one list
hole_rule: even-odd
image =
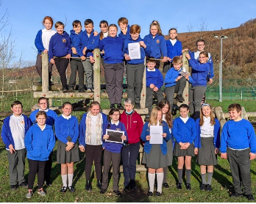
[[199,125],[200,118],[196,120],[196,139],[194,142],[195,148],[198,149],[197,161],[199,165],[216,165],[217,155],[215,148],[220,147],[220,124],[218,119],[215,120],[215,124],[210,124],[210,117],[203,117],[204,124]]

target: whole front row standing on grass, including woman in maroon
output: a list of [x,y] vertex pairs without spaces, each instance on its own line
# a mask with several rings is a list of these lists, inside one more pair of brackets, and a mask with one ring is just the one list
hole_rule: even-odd
[[[202,176],[202,191],[211,191],[213,166],[217,164],[217,154],[221,151],[221,158],[228,159],[235,187],[231,197],[245,195],[248,200],[252,196],[250,161],[255,159],[256,138],[255,131],[248,120],[241,117],[241,105],[233,103],[229,106],[230,120],[224,124],[220,137],[220,124],[213,117],[212,106],[203,103],[200,117],[196,122],[188,117],[189,107],[179,106],[180,116],[174,121],[171,118],[171,105],[168,100],[160,101],[154,107],[149,121],[143,125],[141,116],[133,109],[133,101],[124,101],[124,112],[111,109],[109,118],[100,112],[100,104],[90,103],[89,112],[82,116],[80,123],[77,117],[71,115],[72,105],[63,103],[63,114],[57,114],[48,109],[46,98],[39,98],[40,109],[32,112],[30,117],[22,114],[22,103],[14,101],[11,105],[13,114],[4,120],[1,136],[7,149],[9,161],[10,189],[18,186],[27,187],[27,198],[33,194],[35,175],[38,173],[38,194],[46,195],[43,182],[51,186],[46,163],[55,145],[57,145],[57,164],[61,164],[63,187],[60,192],[75,192],[72,184],[74,176],[74,162],[79,161],[79,150],[85,152],[85,175],[87,191],[92,190],[90,173],[94,161],[97,187],[104,194],[108,186],[110,164],[113,167],[113,192],[121,196],[118,190],[119,165],[122,159],[124,165],[124,192],[135,190],[136,160],[139,147],[143,142],[142,162],[148,167],[149,192],[154,192],[154,181],[157,177],[157,191],[155,196],[162,194],[162,186],[168,188],[166,181],[168,166],[172,164],[173,156],[177,156],[177,189],[182,189],[182,172],[185,164],[186,189],[191,189],[191,158],[197,156]],[[51,125],[49,125],[51,124]],[[54,131],[53,125],[54,124]],[[163,142],[152,144],[150,128],[152,125],[163,127]],[[122,142],[109,142],[108,131],[118,131]],[[55,136],[54,136],[55,133]],[[110,139],[111,140],[111,139]],[[79,142],[79,146],[77,145]],[[78,150],[79,149],[79,150]],[[86,150],[86,151],[85,151]],[[102,152],[104,150],[102,174]],[[29,162],[28,184],[24,179],[25,157]],[[50,162],[51,163],[51,162]],[[50,164],[51,165],[51,164]],[[51,168],[51,166],[50,166]],[[156,174],[156,175],[155,175]],[[207,176],[207,181],[206,181]],[[241,183],[243,189],[241,188]]]

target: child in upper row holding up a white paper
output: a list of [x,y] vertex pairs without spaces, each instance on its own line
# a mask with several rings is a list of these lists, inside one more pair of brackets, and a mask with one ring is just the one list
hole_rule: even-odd
[[[141,108],[141,90],[143,86],[143,74],[145,70],[144,60],[145,53],[150,55],[149,45],[143,42],[140,37],[141,26],[132,25],[129,34],[130,37],[124,41],[124,58],[127,60],[127,94],[128,98],[131,98],[132,102],[135,102],[137,109]],[[141,59],[131,59],[129,56],[129,43],[138,43],[141,51]],[[135,86],[136,85],[136,86]]]

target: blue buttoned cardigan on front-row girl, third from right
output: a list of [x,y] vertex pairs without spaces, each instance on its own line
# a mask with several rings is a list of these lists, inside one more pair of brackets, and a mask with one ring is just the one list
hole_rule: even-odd
[[174,126],[172,128],[172,134],[176,139],[176,142],[193,143],[196,138],[196,122],[193,118],[189,117],[187,123],[184,123],[180,117],[174,120]]

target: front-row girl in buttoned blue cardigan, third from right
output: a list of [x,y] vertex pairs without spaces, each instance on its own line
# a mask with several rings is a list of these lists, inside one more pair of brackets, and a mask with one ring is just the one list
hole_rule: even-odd
[[[182,189],[182,171],[185,162],[186,168],[186,189],[191,190],[191,159],[194,154],[193,140],[196,138],[196,123],[188,117],[188,105],[179,106],[180,116],[174,120],[172,134],[176,140],[174,156],[178,157],[178,178],[177,189]],[[185,159],[184,159],[185,156]]]

